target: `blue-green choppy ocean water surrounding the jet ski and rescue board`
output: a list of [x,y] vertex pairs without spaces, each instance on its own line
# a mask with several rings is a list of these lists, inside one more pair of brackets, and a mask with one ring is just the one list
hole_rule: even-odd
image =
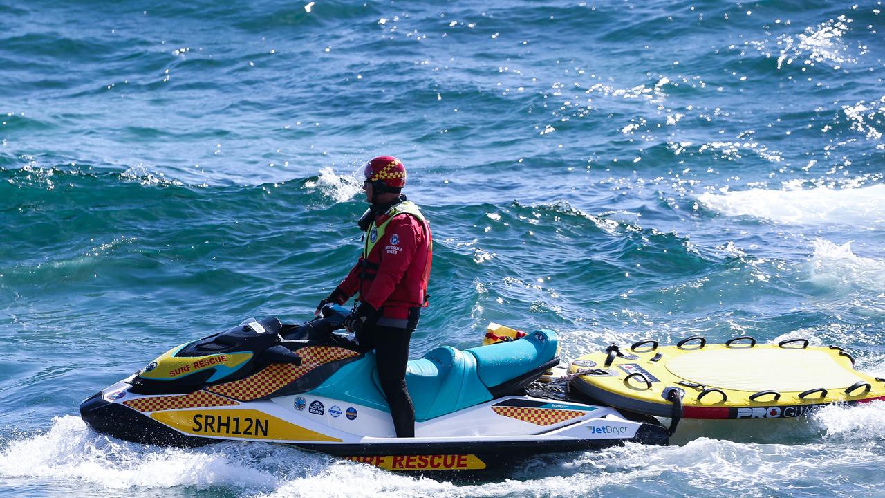
[[885,374],[883,10],[0,0],[0,494],[885,494],[882,403],[474,483],[78,415],[172,345],[306,320],[358,255],[379,154],[435,233],[412,357],[494,321],[567,358],[749,334]]

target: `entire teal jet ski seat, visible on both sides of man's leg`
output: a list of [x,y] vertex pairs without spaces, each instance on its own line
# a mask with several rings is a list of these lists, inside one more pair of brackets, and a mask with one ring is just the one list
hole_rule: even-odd
[[[435,347],[406,367],[405,382],[415,420],[426,421],[490,401],[540,377],[556,358],[553,331],[464,351]],[[389,411],[381,391],[374,353],[350,362],[310,394]]]

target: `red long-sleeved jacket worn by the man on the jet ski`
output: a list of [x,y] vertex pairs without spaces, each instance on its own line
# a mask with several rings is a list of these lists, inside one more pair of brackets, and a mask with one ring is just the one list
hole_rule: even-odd
[[[375,225],[386,220],[387,215],[381,214],[375,218]],[[391,239],[396,244],[391,244]],[[411,214],[396,214],[369,253],[368,264],[360,256],[338,285],[346,296],[344,300],[359,292],[364,302],[375,309],[383,308],[382,315],[389,318],[406,318],[410,307],[425,306],[431,240],[429,226]]]

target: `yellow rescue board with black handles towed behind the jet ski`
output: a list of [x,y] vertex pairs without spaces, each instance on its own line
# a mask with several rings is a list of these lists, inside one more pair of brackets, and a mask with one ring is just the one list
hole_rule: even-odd
[[[850,354],[806,339],[757,345],[750,337],[677,346],[610,346],[569,367],[572,388],[594,401],[654,416],[789,418],[833,403],[885,400],[885,379],[854,370]],[[674,397],[678,396],[679,400]],[[674,410],[681,411],[681,414]]]

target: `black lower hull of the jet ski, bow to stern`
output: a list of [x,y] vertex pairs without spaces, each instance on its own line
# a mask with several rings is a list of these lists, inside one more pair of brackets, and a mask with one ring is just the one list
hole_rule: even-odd
[[[190,436],[160,424],[148,416],[119,403],[104,401],[103,393],[96,393],[80,406],[82,419],[97,432],[103,432],[121,440],[136,443],[172,446],[200,447],[225,440]],[[627,441],[648,445],[667,444],[667,434],[658,424],[646,423],[640,426],[634,438],[629,440],[517,440],[517,441],[468,441],[468,442],[419,442],[419,443],[379,443],[379,444],[296,444],[293,446],[314,450],[327,455],[342,457],[372,457],[389,455],[475,455],[486,464],[485,469],[473,470],[412,470],[426,475],[451,476],[456,473],[477,473],[507,471],[514,464],[536,455],[563,453],[570,451],[595,450],[619,446]]]

